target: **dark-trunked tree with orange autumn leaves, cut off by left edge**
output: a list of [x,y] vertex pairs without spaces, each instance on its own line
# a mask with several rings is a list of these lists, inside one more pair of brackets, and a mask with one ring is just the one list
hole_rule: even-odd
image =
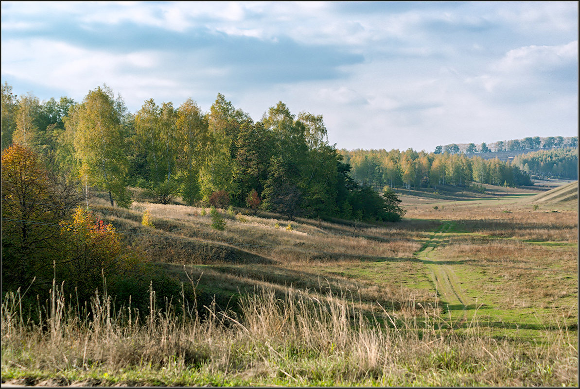
[[[58,223],[79,202],[78,192],[51,177],[30,147],[2,151],[2,288],[43,285],[60,260]],[[7,288],[8,287],[8,288]],[[44,288],[44,286],[43,286]]]

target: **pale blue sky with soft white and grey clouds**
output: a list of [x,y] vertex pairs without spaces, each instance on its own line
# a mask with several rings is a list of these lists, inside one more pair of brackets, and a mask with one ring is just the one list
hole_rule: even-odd
[[577,1],[2,1],[1,32],[2,83],[41,101],[282,101],[347,150],[578,135]]

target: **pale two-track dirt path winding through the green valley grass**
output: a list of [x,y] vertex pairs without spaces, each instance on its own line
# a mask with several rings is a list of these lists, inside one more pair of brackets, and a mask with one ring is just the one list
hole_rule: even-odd
[[433,233],[432,237],[415,253],[415,257],[425,264],[441,304],[452,315],[453,319],[465,321],[471,315],[469,310],[474,303],[461,288],[461,280],[445,258],[436,255],[436,249],[448,241],[448,232],[454,226],[453,221],[444,221],[443,226]]

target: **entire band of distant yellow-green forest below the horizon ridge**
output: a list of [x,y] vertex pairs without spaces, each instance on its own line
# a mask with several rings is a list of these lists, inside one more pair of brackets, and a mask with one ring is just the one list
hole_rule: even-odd
[[470,183],[500,186],[532,185],[530,175],[578,179],[578,148],[551,149],[517,155],[513,162],[484,159],[467,154],[427,154],[406,151],[340,150],[352,166],[358,183],[373,187],[437,188]]

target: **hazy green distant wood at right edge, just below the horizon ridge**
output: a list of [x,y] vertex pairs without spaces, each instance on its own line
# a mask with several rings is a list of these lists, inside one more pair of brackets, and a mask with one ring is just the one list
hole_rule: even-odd
[[578,148],[532,151],[516,155],[512,163],[530,174],[578,180]]

